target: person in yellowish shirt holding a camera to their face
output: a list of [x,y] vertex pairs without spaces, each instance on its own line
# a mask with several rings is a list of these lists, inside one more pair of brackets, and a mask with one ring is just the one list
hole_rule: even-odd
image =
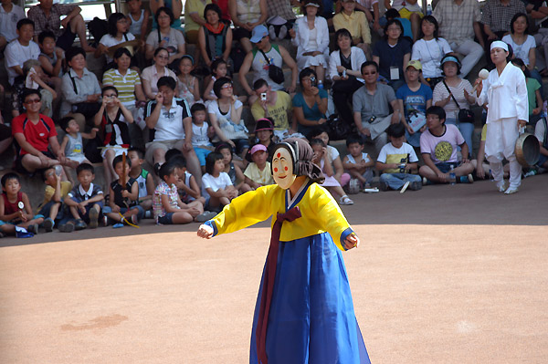
[[287,92],[274,91],[266,80],[259,78],[253,84],[257,95],[257,101],[251,105],[251,114],[258,122],[260,119],[271,118],[273,120],[274,135],[279,140],[288,138],[297,132],[297,120],[293,118],[290,127],[291,97]]

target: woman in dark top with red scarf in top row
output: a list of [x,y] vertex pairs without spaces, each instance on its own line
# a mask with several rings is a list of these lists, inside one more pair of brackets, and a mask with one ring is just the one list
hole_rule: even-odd
[[205,5],[205,24],[198,30],[198,47],[205,65],[217,58],[228,62],[232,50],[232,29],[222,21],[221,9],[215,4]]

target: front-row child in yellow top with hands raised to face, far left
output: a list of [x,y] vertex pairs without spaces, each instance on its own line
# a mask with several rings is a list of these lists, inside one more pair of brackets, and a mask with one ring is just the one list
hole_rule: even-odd
[[[38,213],[46,216],[42,226],[49,233],[53,231],[56,223],[63,220],[65,213],[63,200],[67,197],[68,192],[72,190],[72,183],[61,181],[60,173],[56,173],[56,168],[53,167],[47,168],[42,173],[42,177],[44,183],[46,183],[46,189],[44,191],[44,202],[38,206]],[[59,225],[60,232],[71,233],[73,230],[73,224]]]

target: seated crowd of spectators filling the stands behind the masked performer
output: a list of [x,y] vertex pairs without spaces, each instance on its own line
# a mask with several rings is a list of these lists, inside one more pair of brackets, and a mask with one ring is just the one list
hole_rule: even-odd
[[[416,0],[385,0],[385,15],[376,0],[157,3],[143,9],[127,0],[128,14],[109,16],[90,44],[79,6],[39,0],[26,17],[2,2],[9,85],[0,91],[12,90],[13,120],[6,127],[0,114],[0,152],[13,146],[16,172],[2,177],[0,234],[121,227],[149,216],[156,224],[205,222],[239,194],[274,183],[270,151],[290,136],[311,143],[322,185],[341,204],[371,191],[375,174],[382,191],[401,192],[489,178],[486,128],[473,159],[474,120],[462,111],[481,99],[465,77],[484,49],[495,67],[497,39],[525,76],[541,145],[525,174],[548,168],[547,68],[536,49],[544,33],[528,34],[531,18],[548,16],[548,7],[488,0],[480,11],[477,0],[439,0],[425,16]],[[105,58],[100,78],[87,53]],[[245,95],[235,94],[234,73]],[[244,122],[247,109],[253,125]],[[334,135],[346,140],[346,155],[329,144]],[[97,163],[103,186],[93,182]],[[17,173],[43,178],[34,212]]]

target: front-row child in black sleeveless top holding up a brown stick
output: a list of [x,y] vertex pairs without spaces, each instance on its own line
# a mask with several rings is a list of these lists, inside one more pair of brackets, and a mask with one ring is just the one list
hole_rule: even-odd
[[[123,223],[138,224],[144,215],[142,206],[138,204],[139,183],[130,177],[132,160],[126,158],[125,162],[124,166],[122,155],[116,156],[112,161],[112,168],[120,178],[111,182],[109,205],[103,208],[103,213],[117,222],[112,227],[121,227]],[[105,219],[105,225],[108,223],[107,220]]]

